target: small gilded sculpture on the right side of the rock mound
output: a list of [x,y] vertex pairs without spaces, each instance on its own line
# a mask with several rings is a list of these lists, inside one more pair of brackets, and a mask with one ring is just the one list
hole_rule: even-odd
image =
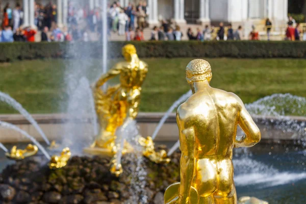
[[144,148],[142,151],[143,156],[148,158],[151,162],[167,164],[171,161],[167,158],[167,152],[165,150],[155,151],[154,142],[151,137],[139,137],[138,142]]

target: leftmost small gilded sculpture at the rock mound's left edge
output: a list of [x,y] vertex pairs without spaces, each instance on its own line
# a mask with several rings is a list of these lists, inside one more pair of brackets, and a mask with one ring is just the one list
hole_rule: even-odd
[[5,156],[11,160],[23,160],[36,155],[37,151],[37,146],[32,144],[28,144],[25,149],[17,149],[17,146],[13,146],[11,152],[6,152]]

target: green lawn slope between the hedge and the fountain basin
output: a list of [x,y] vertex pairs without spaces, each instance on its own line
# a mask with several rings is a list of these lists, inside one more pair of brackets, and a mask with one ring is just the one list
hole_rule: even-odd
[[[166,111],[189,90],[185,67],[191,58],[143,59],[149,73],[143,85],[141,111]],[[211,85],[235,92],[244,103],[273,93],[306,97],[306,60],[303,59],[206,59],[212,65]],[[110,66],[115,61],[110,62]],[[65,68],[65,64],[71,64]],[[100,73],[99,60],[33,60],[0,64],[0,91],[14,97],[31,113],[58,113],[66,110],[65,70],[89,67],[86,77],[94,80]],[[67,74],[66,74],[67,75]],[[0,104],[0,114],[14,113]]]

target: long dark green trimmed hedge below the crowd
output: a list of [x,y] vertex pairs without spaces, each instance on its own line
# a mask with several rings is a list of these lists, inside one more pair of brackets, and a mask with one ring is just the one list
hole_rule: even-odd
[[[109,58],[121,57],[127,42],[109,42]],[[146,41],[132,42],[141,58],[230,57],[305,58],[306,42],[290,41]],[[101,58],[102,44],[86,43],[0,43],[0,62],[41,58]]]

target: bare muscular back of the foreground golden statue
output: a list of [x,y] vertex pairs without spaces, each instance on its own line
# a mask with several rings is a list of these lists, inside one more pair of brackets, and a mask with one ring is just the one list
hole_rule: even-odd
[[209,88],[193,94],[179,109],[185,125],[193,127],[195,157],[232,157],[240,106],[223,90]]

